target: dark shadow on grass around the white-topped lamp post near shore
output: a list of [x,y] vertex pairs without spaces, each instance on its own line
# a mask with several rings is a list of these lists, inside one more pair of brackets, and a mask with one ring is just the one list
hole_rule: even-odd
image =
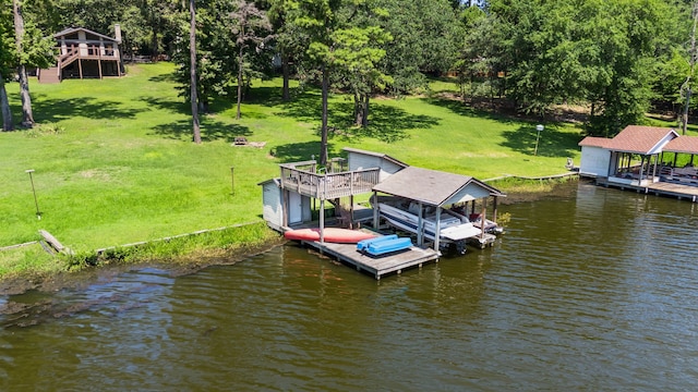
[[[506,140],[502,146],[512,150],[533,155],[535,152],[535,138],[538,132],[535,124],[522,124],[502,134]],[[538,142],[538,156],[551,158],[567,158],[578,152],[579,135],[569,132],[559,132],[555,125],[545,125],[541,131]]]

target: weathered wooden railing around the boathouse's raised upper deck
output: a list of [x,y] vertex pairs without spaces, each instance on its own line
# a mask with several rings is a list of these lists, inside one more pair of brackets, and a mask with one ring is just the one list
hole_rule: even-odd
[[326,200],[369,193],[378,183],[380,169],[317,173],[314,161],[281,164],[281,187]]

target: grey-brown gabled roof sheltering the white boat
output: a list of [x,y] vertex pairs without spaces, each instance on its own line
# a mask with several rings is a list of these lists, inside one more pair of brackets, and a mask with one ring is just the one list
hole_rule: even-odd
[[[433,206],[457,203],[455,199],[470,186],[482,196],[506,196],[497,188],[468,175],[407,167],[373,187],[374,192],[409,198]],[[480,197],[482,197],[480,196]]]

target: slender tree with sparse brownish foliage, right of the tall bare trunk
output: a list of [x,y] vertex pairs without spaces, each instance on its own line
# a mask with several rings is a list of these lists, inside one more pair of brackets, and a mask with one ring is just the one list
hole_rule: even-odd
[[254,51],[258,52],[263,49],[262,44],[270,38],[268,33],[272,30],[272,24],[266,12],[258,10],[253,2],[240,0],[237,7],[238,9],[230,13],[230,17],[234,21],[232,34],[238,47],[238,110],[236,120],[240,120],[243,74],[249,69],[245,65],[245,48],[249,44],[253,44]]

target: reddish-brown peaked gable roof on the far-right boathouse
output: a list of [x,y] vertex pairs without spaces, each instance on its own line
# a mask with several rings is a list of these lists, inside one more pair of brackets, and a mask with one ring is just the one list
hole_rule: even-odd
[[678,137],[667,127],[628,125],[604,147],[613,151],[652,155],[662,151],[671,139]]

